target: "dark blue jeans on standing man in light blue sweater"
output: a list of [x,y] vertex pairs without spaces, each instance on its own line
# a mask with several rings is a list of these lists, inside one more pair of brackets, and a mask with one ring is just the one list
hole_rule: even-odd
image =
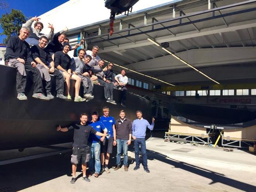
[[139,161],[139,150],[142,152],[143,166],[144,169],[147,168],[147,149],[146,149],[146,141],[145,138],[136,138],[134,140],[134,148],[135,148],[135,162],[136,166],[140,166]]

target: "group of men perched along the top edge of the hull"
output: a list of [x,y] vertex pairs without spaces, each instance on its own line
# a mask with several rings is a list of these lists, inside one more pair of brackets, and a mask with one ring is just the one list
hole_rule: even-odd
[[[32,27],[35,21],[34,27]],[[54,99],[51,93],[50,74],[55,76],[56,97],[71,101],[70,80],[75,81],[75,102],[88,101],[94,98],[93,83],[104,86],[104,96],[107,102],[116,104],[113,99],[113,89],[123,90],[121,94],[121,105],[126,102],[126,84],[128,77],[126,71],[121,70],[121,74],[114,76],[112,67],[109,64],[104,67],[105,61],[97,55],[98,46],[93,46],[92,51],[80,48],[83,43],[71,47],[69,39],[65,35],[67,28],[54,35],[54,27],[49,24],[50,33],[45,35],[41,33],[43,29],[42,22],[38,17],[29,19],[23,24],[18,36],[12,36],[9,39],[5,53],[5,64],[14,66],[17,69],[16,88],[17,99],[27,100],[25,95],[26,87],[26,69],[33,74],[33,98],[41,100]],[[28,42],[26,42],[26,40]],[[71,58],[67,53],[69,50],[75,50],[77,57]],[[45,81],[45,87],[43,87]],[[83,97],[79,95],[80,86],[83,85]],[[64,88],[64,85],[65,88]],[[64,91],[66,90],[66,93]],[[46,93],[46,94],[45,94]]]

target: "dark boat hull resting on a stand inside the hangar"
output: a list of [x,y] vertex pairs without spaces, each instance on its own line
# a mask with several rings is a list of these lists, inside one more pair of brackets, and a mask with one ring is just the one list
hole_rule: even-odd
[[184,123],[218,129],[237,129],[256,125],[256,112],[244,109],[173,103],[170,111]]

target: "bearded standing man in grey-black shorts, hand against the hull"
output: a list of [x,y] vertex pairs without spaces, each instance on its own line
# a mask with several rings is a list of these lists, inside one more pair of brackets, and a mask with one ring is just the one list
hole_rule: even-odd
[[73,137],[73,154],[71,156],[71,163],[72,163],[72,179],[70,183],[74,184],[76,181],[76,168],[77,164],[82,163],[82,170],[83,170],[83,180],[86,182],[90,182],[90,179],[86,176],[86,163],[90,159],[90,147],[88,146],[88,138],[90,133],[100,136],[107,136],[107,134],[100,133],[92,128],[92,126],[86,125],[88,121],[88,115],[86,113],[81,114],[80,117],[81,122],[76,125],[72,125],[70,127],[61,128],[59,125],[57,127],[57,131],[69,131],[74,130],[74,137]]

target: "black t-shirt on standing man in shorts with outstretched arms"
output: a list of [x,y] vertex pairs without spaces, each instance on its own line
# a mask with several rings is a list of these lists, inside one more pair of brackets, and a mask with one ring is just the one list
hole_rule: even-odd
[[90,133],[96,134],[97,131],[90,125],[71,125],[68,130],[74,130],[73,147],[87,147]]

